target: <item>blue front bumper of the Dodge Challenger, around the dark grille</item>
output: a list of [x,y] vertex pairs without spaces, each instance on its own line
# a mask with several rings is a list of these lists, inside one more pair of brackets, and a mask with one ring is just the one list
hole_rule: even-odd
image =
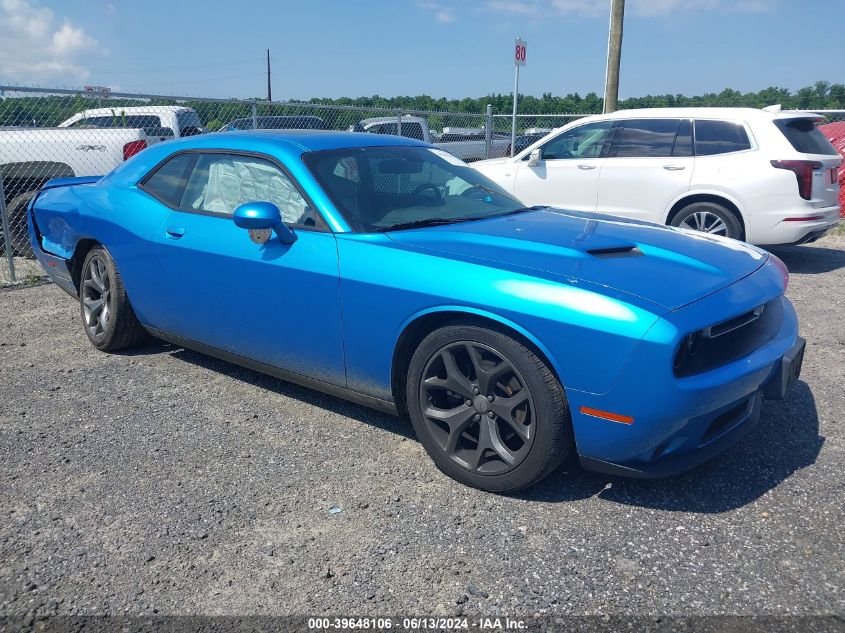
[[[567,390],[575,442],[586,468],[634,477],[684,472],[744,437],[759,420],[764,398],[785,395],[798,379],[805,343],[798,336],[792,305],[780,295],[767,268],[663,317],[607,393]],[[712,323],[713,315],[724,315],[726,307],[728,314],[739,313],[773,300],[781,302],[783,316],[765,344],[703,373],[674,375],[672,353],[679,336],[708,319]],[[582,407],[633,421],[603,419],[583,413]]]

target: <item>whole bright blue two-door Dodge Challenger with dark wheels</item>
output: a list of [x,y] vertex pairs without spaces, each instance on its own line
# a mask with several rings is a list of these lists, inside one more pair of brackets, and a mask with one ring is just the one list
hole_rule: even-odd
[[783,398],[804,341],[775,256],[525,207],[412,139],[231,132],[47,183],[29,232],[98,349],[147,335],[408,416],[437,466],[512,492],[571,451],[689,469]]

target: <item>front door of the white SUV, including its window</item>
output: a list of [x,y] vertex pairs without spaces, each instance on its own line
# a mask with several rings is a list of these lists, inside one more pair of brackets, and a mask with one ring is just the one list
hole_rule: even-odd
[[525,204],[595,211],[599,174],[613,128],[595,121],[570,128],[541,147],[541,160],[528,156],[516,166],[514,194]]

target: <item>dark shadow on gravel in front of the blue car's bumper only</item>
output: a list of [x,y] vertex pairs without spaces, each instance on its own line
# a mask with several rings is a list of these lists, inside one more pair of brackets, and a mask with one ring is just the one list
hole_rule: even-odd
[[798,382],[783,402],[766,402],[757,427],[700,467],[666,479],[628,479],[583,470],[577,459],[521,498],[561,502],[598,496],[658,510],[719,513],[751,503],[813,464],[824,444],[810,388]]

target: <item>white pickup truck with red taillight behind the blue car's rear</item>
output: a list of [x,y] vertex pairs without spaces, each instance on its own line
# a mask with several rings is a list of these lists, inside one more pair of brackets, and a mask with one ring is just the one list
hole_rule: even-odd
[[157,141],[139,128],[0,128],[0,186],[14,251],[31,254],[26,207],[45,182],[105,175]]

